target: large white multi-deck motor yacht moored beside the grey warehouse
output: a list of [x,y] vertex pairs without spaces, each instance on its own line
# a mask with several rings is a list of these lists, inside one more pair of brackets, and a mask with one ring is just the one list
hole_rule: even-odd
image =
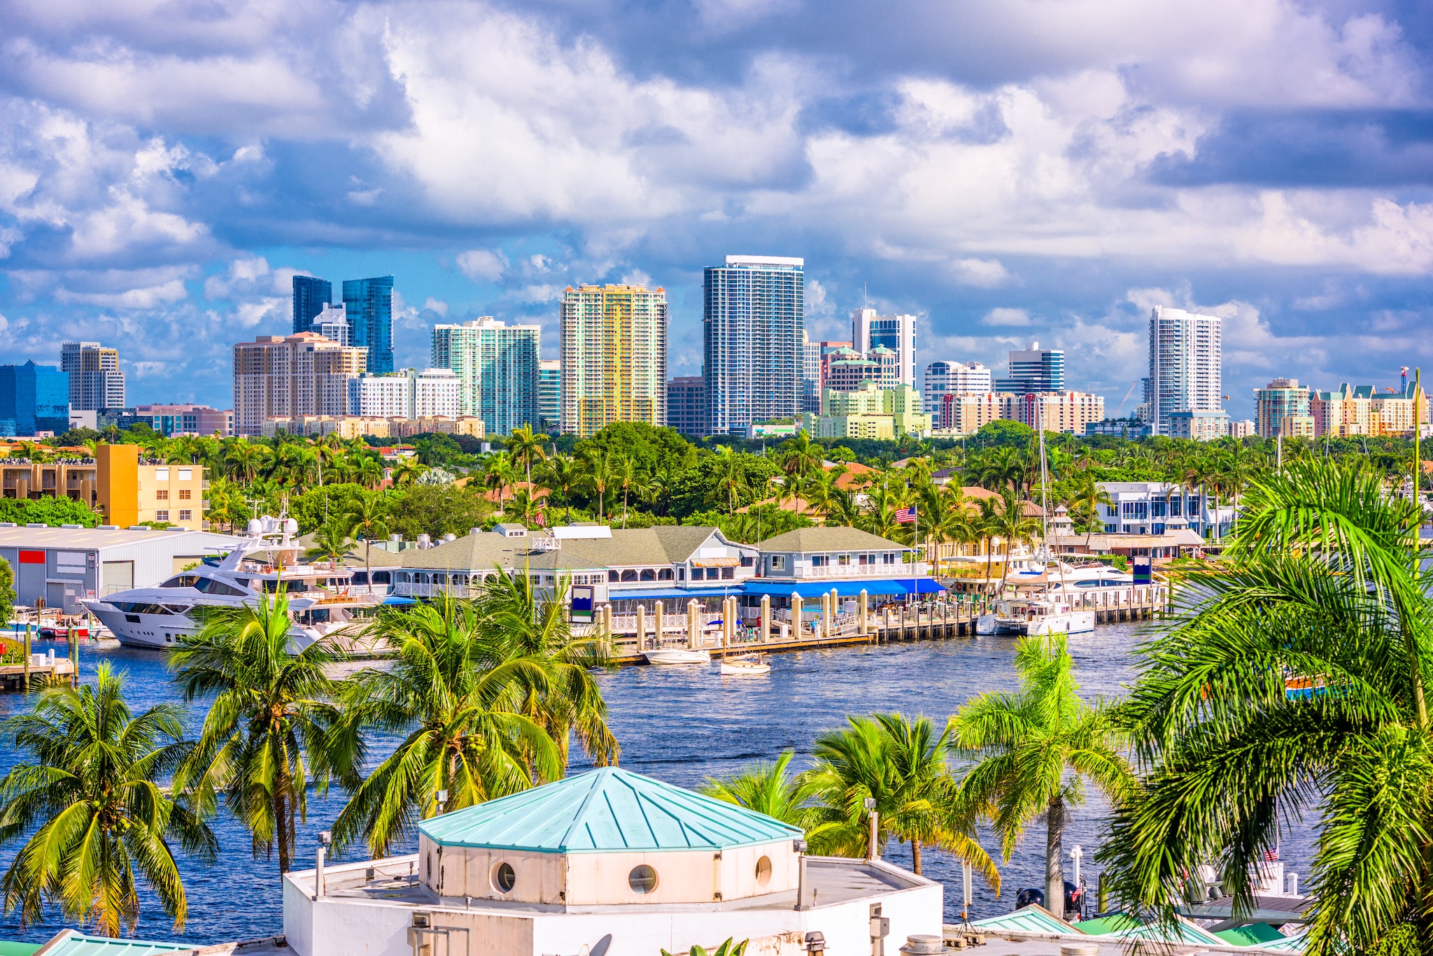
[[341,563],[304,563],[297,532],[298,522],[291,517],[254,519],[248,537],[228,555],[206,558],[155,588],[130,588],[83,603],[120,644],[163,649],[199,631],[191,616],[195,606],[236,608],[282,588],[294,621],[292,652],[318,641],[363,651],[354,611],[377,606],[384,595],[354,586],[354,572]]

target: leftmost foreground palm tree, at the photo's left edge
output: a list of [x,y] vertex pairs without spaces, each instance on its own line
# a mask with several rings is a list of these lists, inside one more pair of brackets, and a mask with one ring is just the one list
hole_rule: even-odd
[[219,849],[162,784],[193,747],[183,708],[166,702],[133,715],[125,675],[105,662],[95,687],[50,687],[0,732],[34,761],[0,780],[0,843],[32,834],[0,881],[6,912],[39,922],[56,900],[67,920],[105,936],[132,933],[142,879],[182,930],[189,903],[173,846],[203,863]]

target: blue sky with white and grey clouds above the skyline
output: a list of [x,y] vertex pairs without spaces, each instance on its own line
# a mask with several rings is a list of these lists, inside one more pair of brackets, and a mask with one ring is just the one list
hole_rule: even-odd
[[6,0],[0,363],[120,350],[130,403],[232,404],[294,274],[438,321],[798,255],[807,327],[1066,350],[1128,414],[1148,315],[1221,315],[1234,417],[1285,376],[1429,365],[1429,4],[1277,0]]

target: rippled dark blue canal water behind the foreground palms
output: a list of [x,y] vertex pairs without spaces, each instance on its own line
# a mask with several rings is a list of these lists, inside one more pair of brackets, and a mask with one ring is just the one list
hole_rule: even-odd
[[[1119,695],[1135,675],[1132,648],[1139,625],[1108,625],[1078,635],[1070,649],[1082,692]],[[49,646],[49,645],[42,645]],[[42,649],[37,646],[36,649]],[[59,645],[63,655],[63,645]],[[176,699],[165,658],[159,652],[120,648],[82,654],[82,674],[93,679],[95,668],[110,661],[128,672],[128,697],[139,711],[160,701]],[[709,668],[622,668],[599,678],[612,711],[610,724],[622,744],[620,764],[629,770],[684,787],[708,777],[739,770],[749,761],[771,760],[794,750],[798,767],[810,765],[817,734],[838,727],[848,714],[900,711],[926,714],[940,725],[966,699],[983,691],[1013,691],[1013,641],[1006,638],[952,639],[830,651],[777,654],[765,677],[724,678]],[[20,695],[0,697],[0,712],[21,707]],[[191,708],[192,728],[203,720],[203,705]],[[391,747],[393,742],[388,744]],[[377,748],[375,748],[377,750]],[[9,770],[16,754],[9,742],[0,747],[0,771]],[[583,767],[577,757],[572,767]],[[342,806],[338,794],[310,798],[308,821],[301,827],[297,866],[312,867],[318,833],[332,823]],[[1065,836],[1066,853],[1085,849],[1085,877],[1093,894],[1099,864],[1091,857],[1105,831],[1106,807],[1089,791],[1089,800],[1073,811]],[[277,861],[254,860],[249,837],[231,817],[212,826],[221,841],[221,857],[212,867],[181,861],[189,897],[189,924],[175,933],[163,912],[146,897],[138,935],[152,940],[219,943],[282,932]],[[986,834],[984,846],[996,843]],[[403,847],[410,853],[414,847]],[[1307,833],[1285,840],[1283,856],[1290,869],[1308,873],[1311,840]],[[16,847],[0,847],[0,867],[9,867]],[[887,857],[910,866],[907,846],[891,843]],[[355,857],[357,859],[357,857]],[[923,853],[926,876],[946,886],[946,917],[960,913],[960,864],[939,850]],[[1003,890],[996,897],[976,880],[972,916],[990,916],[1015,909],[1023,887],[1043,883],[1045,828],[1036,821],[1009,861],[999,861]],[[1066,860],[1066,876],[1069,876]],[[1092,900],[1093,903],[1093,900]],[[62,923],[52,914],[44,926],[20,927],[13,916],[0,922],[0,939],[39,942],[49,939]]]

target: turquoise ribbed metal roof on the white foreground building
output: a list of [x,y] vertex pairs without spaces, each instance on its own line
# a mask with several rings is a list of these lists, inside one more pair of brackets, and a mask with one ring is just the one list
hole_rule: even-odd
[[447,847],[546,853],[721,850],[801,836],[737,804],[602,767],[418,824]]

